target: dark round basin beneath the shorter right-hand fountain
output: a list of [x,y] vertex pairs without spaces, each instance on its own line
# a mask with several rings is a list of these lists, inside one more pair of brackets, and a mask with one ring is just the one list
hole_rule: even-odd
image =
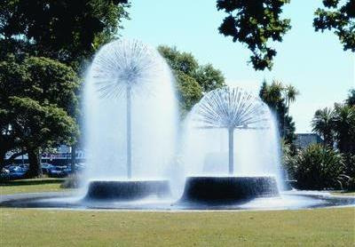
[[236,203],[279,196],[274,177],[188,177],[180,203]]

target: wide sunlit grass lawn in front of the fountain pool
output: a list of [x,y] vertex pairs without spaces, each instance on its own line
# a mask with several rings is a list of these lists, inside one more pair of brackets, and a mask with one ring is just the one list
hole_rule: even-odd
[[47,211],[1,209],[1,246],[353,246],[355,209]]

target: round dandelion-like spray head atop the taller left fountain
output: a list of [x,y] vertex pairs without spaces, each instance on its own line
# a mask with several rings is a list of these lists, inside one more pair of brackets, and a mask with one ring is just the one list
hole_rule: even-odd
[[162,58],[154,48],[136,40],[117,40],[101,48],[91,65],[101,98],[121,98],[154,87]]

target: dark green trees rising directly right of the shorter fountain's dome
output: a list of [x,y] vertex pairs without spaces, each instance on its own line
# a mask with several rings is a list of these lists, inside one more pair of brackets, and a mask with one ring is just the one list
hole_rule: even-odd
[[288,115],[290,102],[296,100],[298,92],[296,88],[288,85],[284,86],[278,81],[272,81],[272,84],[263,82],[259,96],[275,113],[279,123],[280,136],[285,139],[288,144],[292,144],[296,139],[295,123],[292,116]]

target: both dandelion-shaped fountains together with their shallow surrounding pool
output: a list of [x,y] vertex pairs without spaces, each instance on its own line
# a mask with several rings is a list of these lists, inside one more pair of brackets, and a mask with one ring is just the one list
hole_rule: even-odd
[[83,189],[2,195],[1,207],[179,211],[355,204],[353,197],[282,191],[276,121],[262,100],[241,88],[205,94],[177,135],[173,76],[146,44],[104,45],[88,68],[83,98]]

